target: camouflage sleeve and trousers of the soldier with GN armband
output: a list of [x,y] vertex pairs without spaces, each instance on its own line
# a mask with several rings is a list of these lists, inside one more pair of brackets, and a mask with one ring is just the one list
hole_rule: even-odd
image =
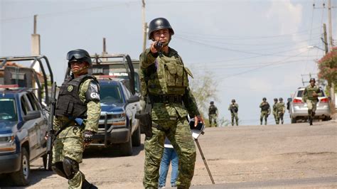
[[[63,162],[65,157],[81,163],[84,151],[83,132],[85,130],[97,132],[98,130],[101,112],[100,102],[97,100],[87,102],[85,96],[91,81],[92,79],[87,79],[79,87],[80,100],[87,104],[87,118],[83,119],[82,124],[84,126],[79,126],[68,117],[55,117],[54,119],[55,131],[58,131],[63,125],[66,125],[66,127],[58,134],[54,141],[53,164]],[[85,175],[78,171],[73,178],[68,180],[69,188],[82,188],[84,180]]]

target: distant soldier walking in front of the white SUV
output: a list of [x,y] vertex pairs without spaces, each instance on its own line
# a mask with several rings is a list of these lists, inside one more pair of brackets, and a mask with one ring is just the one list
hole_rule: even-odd
[[321,90],[319,89],[319,87],[315,85],[315,83],[316,83],[315,78],[311,78],[310,85],[308,85],[303,92],[303,100],[308,105],[308,117],[310,125],[312,125],[312,119],[315,116],[316,105],[317,102],[319,102],[318,97],[322,96]]

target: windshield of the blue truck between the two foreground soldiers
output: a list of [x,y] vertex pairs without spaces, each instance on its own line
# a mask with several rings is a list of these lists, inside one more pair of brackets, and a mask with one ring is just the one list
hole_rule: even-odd
[[101,102],[123,103],[122,92],[118,85],[101,85],[100,87]]

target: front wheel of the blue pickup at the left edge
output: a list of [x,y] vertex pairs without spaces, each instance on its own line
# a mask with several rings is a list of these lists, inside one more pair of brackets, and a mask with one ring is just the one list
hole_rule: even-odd
[[11,178],[14,180],[14,184],[28,185],[30,172],[31,170],[29,167],[29,155],[26,148],[22,148],[20,170],[15,173],[11,173]]

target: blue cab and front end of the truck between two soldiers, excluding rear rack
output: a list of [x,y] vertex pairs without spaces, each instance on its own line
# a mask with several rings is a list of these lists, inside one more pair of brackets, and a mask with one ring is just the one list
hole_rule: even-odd
[[119,144],[123,156],[132,155],[132,146],[141,145],[139,97],[132,95],[120,80],[99,80],[101,117],[99,129],[90,146]]

